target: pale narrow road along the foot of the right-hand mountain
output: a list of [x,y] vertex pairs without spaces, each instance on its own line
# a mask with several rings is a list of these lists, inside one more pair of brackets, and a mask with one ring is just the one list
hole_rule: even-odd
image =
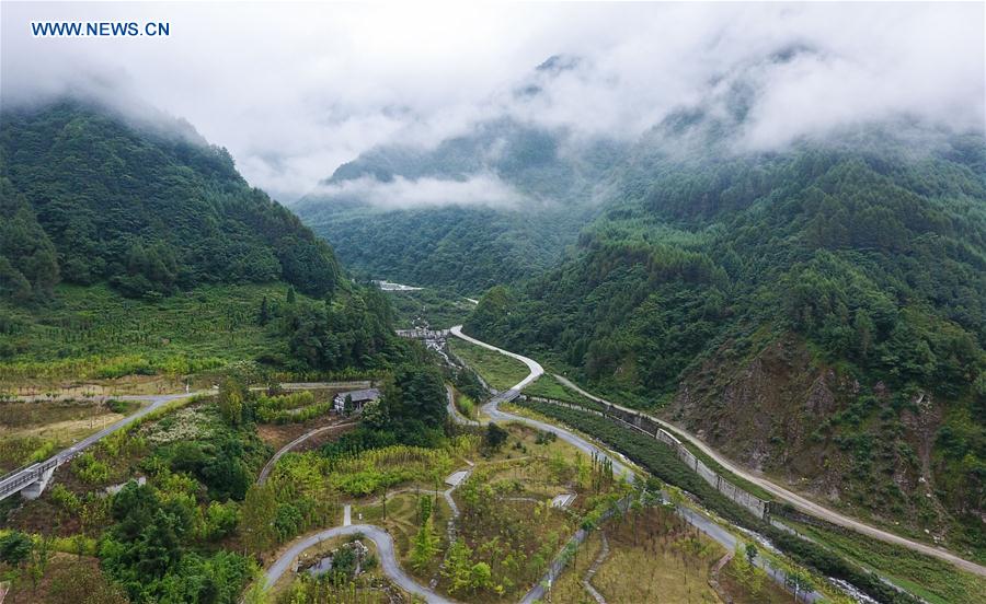
[[[610,403],[609,400],[599,398],[598,396],[595,396],[588,392],[585,392],[584,390],[582,390],[576,384],[572,383],[570,380],[567,380],[566,378],[564,378],[562,375],[554,374],[554,378],[558,379],[558,381],[561,382],[562,384],[569,386],[570,388],[582,394],[583,396],[586,396],[593,400],[596,400],[597,403],[614,405],[615,407],[619,407],[621,409],[624,409],[624,410],[628,410],[631,413],[640,413],[637,409],[630,409],[628,407],[622,407],[620,405],[616,405],[614,403]],[[839,526],[850,528],[852,531],[856,531],[857,533],[873,537],[875,539],[879,539],[879,541],[882,541],[885,543],[890,543],[893,545],[903,546],[913,551],[918,551],[919,554],[926,554],[928,556],[932,556],[935,558],[945,560],[948,562],[955,565],[956,567],[959,567],[963,570],[974,572],[981,577],[986,577],[986,567],[984,567],[982,565],[977,565],[973,561],[961,558],[945,549],[942,549],[939,547],[933,547],[933,546],[918,543],[918,542],[914,542],[906,537],[902,537],[899,535],[894,535],[893,533],[887,533],[886,531],[881,531],[880,528],[870,526],[869,524],[864,524],[858,520],[853,520],[853,519],[842,515],[836,511],[833,511],[828,508],[825,508],[824,506],[822,506],[819,503],[811,501],[798,493],[791,492],[790,490],[777,485],[776,483],[770,481],[769,479],[767,479],[763,476],[752,474],[750,472],[737,466],[735,463],[731,462],[729,458],[724,457],[723,455],[718,453],[715,450],[710,448],[708,444],[702,442],[698,437],[688,432],[687,430],[684,430],[679,426],[675,426],[674,423],[664,421],[663,419],[660,419],[654,416],[649,416],[649,417],[651,417],[654,421],[664,426],[665,428],[674,430],[681,437],[691,441],[692,444],[695,444],[703,453],[706,453],[707,455],[709,455],[710,457],[715,460],[722,467],[729,469],[736,476],[740,476],[742,478],[745,478],[746,480],[749,480],[750,483],[759,486],[764,490],[769,491],[771,495],[773,495],[778,499],[787,501],[788,503],[794,506],[802,512],[805,512],[805,513],[816,516],[816,518],[821,518],[833,524],[837,524]]]

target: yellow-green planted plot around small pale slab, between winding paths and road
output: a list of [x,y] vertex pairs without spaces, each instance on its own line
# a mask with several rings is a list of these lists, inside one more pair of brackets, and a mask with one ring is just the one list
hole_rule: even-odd
[[[457,539],[445,553],[439,588],[472,602],[516,601],[584,522],[592,522],[629,488],[601,458],[554,438],[508,426],[485,461],[456,491]],[[573,493],[567,508],[552,499]]]

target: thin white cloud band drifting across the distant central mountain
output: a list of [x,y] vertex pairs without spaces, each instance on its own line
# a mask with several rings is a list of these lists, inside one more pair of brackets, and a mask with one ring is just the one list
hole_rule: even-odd
[[313,197],[357,199],[388,210],[448,205],[519,209],[529,201],[493,174],[479,174],[462,181],[397,176],[381,182],[364,176],[320,185]]

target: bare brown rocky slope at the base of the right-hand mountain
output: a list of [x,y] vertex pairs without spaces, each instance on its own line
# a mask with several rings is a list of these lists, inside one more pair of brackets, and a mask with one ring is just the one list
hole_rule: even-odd
[[920,511],[932,533],[944,525],[932,461],[941,410],[929,395],[898,411],[882,383],[864,388],[792,335],[742,359],[730,348],[683,380],[666,418],[816,498],[875,518]]

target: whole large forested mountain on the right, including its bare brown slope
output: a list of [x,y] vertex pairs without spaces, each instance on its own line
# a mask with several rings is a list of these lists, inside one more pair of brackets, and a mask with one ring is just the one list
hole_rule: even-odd
[[737,154],[692,118],[645,137],[575,257],[488,292],[467,329],[984,551],[982,137],[896,124]]

